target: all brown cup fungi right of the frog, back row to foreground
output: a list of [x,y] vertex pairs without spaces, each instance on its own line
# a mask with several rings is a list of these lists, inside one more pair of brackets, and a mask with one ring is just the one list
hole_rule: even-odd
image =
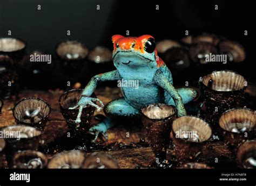
[[[233,158],[237,159],[237,167],[255,168],[256,112],[247,108],[245,77],[233,71],[241,68],[245,61],[244,47],[238,42],[206,33],[187,36],[180,42],[159,41],[156,47],[159,56],[174,72],[174,81],[185,81],[184,74],[189,74],[193,81],[193,74],[197,74],[196,84],[200,88],[196,116],[177,118],[174,108],[159,104],[142,110],[147,137],[156,156],[166,161],[166,147],[172,141],[177,160],[185,162],[179,168],[213,168],[201,163],[198,156],[204,156],[204,149],[213,146],[214,141],[224,141]],[[211,54],[226,55],[227,61],[207,61]],[[223,70],[226,68],[232,70]],[[188,70],[196,73],[191,76]],[[169,124],[165,123],[167,120],[170,120]],[[164,136],[167,140],[161,139]]]

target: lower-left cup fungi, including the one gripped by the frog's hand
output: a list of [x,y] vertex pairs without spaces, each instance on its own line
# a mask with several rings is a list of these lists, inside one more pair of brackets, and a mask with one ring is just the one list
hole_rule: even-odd
[[[79,127],[75,125],[71,118],[77,115],[77,111],[71,111],[68,107],[78,102],[81,93],[81,89],[76,89],[65,92],[60,97],[63,116],[77,135],[85,134],[89,130],[95,110],[92,107],[84,109],[85,120],[82,120]],[[10,168],[118,168],[117,161],[108,154],[87,154],[79,150],[64,151],[54,155],[49,161],[45,154],[37,150],[44,145],[42,133],[50,113],[51,107],[43,99],[24,98],[16,103],[13,108],[16,125],[1,128],[5,138],[1,138],[0,150],[2,155],[5,154]]]

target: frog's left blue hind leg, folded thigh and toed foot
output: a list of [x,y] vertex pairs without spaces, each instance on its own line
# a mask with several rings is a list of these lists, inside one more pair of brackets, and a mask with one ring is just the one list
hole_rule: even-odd
[[109,117],[90,128],[90,131],[96,135],[95,139],[97,139],[99,133],[107,138],[106,131],[118,123],[117,117],[136,117],[140,114],[139,110],[127,103],[124,98],[115,99],[106,104],[104,112]]

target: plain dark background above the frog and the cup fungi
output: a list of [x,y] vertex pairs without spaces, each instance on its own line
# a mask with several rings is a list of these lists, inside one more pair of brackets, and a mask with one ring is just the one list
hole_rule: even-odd
[[[37,5],[41,10],[37,10]],[[100,10],[96,10],[96,5]],[[214,5],[219,10],[214,10]],[[156,10],[159,5],[159,10]],[[117,0],[0,0],[0,37],[21,38],[27,51],[40,49],[55,54],[63,40],[76,39],[92,49],[105,45],[112,50],[111,36],[151,34],[179,40],[190,34],[214,33],[238,41],[246,49],[247,65],[239,73],[254,81],[252,1],[117,1]],[[71,35],[66,35],[70,30]],[[244,35],[244,31],[248,35]],[[172,70],[171,70],[172,71]]]

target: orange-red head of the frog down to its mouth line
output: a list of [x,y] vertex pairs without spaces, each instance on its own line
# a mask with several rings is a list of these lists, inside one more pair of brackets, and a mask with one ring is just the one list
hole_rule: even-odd
[[157,55],[156,42],[151,35],[140,37],[124,37],[123,35],[113,35],[113,60],[118,52],[131,52],[142,56],[149,61],[156,61],[157,67],[164,65]]

